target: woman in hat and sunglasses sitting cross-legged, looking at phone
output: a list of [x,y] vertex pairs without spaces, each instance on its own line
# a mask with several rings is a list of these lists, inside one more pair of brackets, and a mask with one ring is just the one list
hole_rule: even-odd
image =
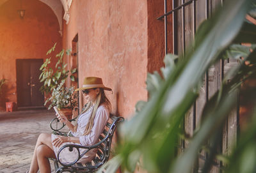
[[[72,133],[72,137],[64,137],[49,133],[41,133],[37,139],[29,173],[51,172],[51,165],[48,158],[56,158],[59,149],[65,144],[81,144],[90,146],[97,143],[100,133],[109,119],[111,103],[109,102],[104,90],[111,91],[105,87],[99,77],[85,77],[83,87],[76,91],[83,91],[84,98],[88,101],[86,108],[79,114],[76,124],[73,125],[65,116],[56,114],[61,123],[65,123]],[[97,150],[89,151],[79,160],[81,163],[90,162]],[[77,158],[77,151],[63,149],[60,154],[62,163],[73,162]]]

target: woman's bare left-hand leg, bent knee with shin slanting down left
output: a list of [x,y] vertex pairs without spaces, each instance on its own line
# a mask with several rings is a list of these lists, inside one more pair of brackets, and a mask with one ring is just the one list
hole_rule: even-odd
[[[49,149],[51,149],[52,153],[53,153],[53,147],[52,147],[52,142],[51,142],[51,134],[41,133],[39,135],[37,141],[36,141],[36,146],[35,146],[35,149],[34,149],[34,154],[33,154],[33,158],[32,158],[32,161],[31,161],[29,173],[33,173],[33,172],[35,173],[39,169],[39,167],[38,167],[38,158],[36,156],[36,153],[37,153],[38,146],[40,146],[42,144],[49,147]],[[53,158],[55,158],[55,155],[53,155]]]

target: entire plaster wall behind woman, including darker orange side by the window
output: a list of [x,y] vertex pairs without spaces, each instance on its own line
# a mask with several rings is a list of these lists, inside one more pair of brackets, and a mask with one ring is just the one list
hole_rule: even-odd
[[72,2],[63,47],[70,49],[78,33],[79,85],[85,76],[102,77],[113,89],[107,94],[114,113],[130,117],[136,102],[147,100],[147,71],[163,66],[164,23],[156,20],[163,10],[161,0]]

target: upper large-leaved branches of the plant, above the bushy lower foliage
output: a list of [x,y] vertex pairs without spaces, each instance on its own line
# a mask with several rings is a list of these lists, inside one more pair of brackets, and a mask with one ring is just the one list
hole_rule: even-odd
[[[56,43],[54,46],[48,50],[47,56],[52,54],[56,48]],[[67,63],[64,63],[63,56],[66,52],[67,55],[70,54],[70,50],[62,49],[61,52],[56,54],[58,61],[55,64],[55,69],[50,67],[51,57],[45,59],[44,64],[40,67],[42,73],[40,74],[40,82],[44,82],[44,85],[40,87],[40,91],[42,93],[51,93],[51,91],[56,88],[61,82],[65,82],[67,77],[70,76],[72,81],[75,81],[74,73],[76,73],[77,69],[67,70]]]

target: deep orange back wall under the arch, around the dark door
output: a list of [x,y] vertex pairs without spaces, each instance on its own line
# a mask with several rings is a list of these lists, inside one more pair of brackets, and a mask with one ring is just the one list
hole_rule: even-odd
[[56,41],[57,50],[62,47],[58,20],[49,6],[23,0],[22,8],[24,19],[17,13],[20,1],[9,0],[0,6],[0,79],[7,79],[4,94],[10,102],[17,101],[15,59],[44,59]]

